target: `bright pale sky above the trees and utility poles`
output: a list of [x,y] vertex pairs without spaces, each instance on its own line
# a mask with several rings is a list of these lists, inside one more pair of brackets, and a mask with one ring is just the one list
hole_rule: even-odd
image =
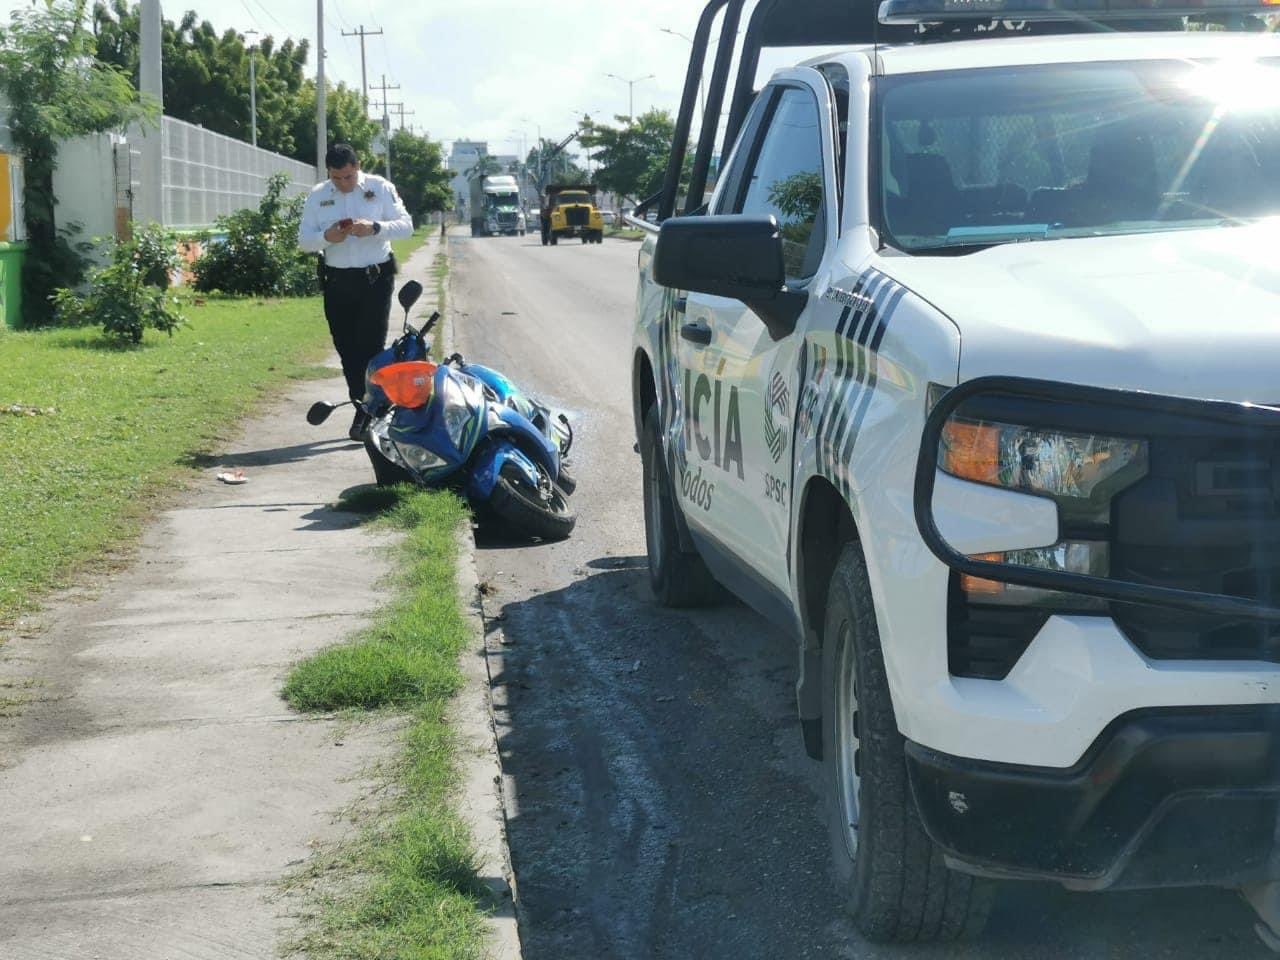
[[[453,140],[484,140],[492,154],[520,154],[539,133],[559,141],[584,113],[613,122],[627,113],[628,91],[637,115],[650,108],[675,114],[690,44],[660,28],[691,37],[703,8],[700,0],[323,3],[330,83],[361,86],[360,37],[343,32],[381,29],[365,38],[369,83],[380,86],[385,76],[398,84],[387,99],[404,104],[404,125],[445,141],[447,151]],[[307,72],[315,76],[316,0],[161,0],[161,9],[175,22],[195,10],[219,33],[310,40]],[[380,105],[381,91],[369,96]],[[399,110],[390,113],[398,127]]]

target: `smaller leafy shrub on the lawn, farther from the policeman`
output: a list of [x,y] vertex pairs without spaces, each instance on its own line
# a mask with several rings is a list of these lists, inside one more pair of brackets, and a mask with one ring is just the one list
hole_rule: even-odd
[[102,324],[108,337],[128,343],[141,343],[147,328],[172,337],[184,323],[166,293],[177,266],[173,234],[157,224],[145,227],[111,248],[109,265],[90,271],[83,297],[65,287],[54,292],[55,320],[64,326]]

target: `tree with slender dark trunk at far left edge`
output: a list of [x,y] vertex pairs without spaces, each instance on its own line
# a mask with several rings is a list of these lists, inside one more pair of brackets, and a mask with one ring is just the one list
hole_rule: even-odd
[[54,205],[58,142],[155,120],[129,78],[95,59],[84,26],[84,0],[50,0],[15,10],[0,28],[0,87],[10,104],[9,128],[22,151],[28,253],[23,266],[23,323],[52,319],[50,296],[84,276],[84,257],[59,229]]

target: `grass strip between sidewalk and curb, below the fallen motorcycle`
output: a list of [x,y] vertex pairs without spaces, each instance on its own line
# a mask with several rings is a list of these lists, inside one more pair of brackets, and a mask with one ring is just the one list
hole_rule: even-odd
[[396,548],[398,599],[352,641],[298,664],[284,696],[300,710],[398,708],[412,721],[387,768],[390,799],[301,878],[317,902],[289,947],[311,960],[477,960],[490,901],[453,813],[454,744],[443,719],[462,685],[467,623],[454,571],[467,512],[453,494],[407,486],[343,506],[367,511],[389,495],[378,522],[406,534]]

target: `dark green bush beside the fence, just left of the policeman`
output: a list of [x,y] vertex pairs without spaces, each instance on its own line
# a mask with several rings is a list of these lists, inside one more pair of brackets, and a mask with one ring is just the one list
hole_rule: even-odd
[[218,219],[225,239],[205,244],[192,266],[197,291],[268,297],[306,297],[320,292],[314,253],[298,250],[303,197],[284,197],[287,174],[273,174],[257,210]]

